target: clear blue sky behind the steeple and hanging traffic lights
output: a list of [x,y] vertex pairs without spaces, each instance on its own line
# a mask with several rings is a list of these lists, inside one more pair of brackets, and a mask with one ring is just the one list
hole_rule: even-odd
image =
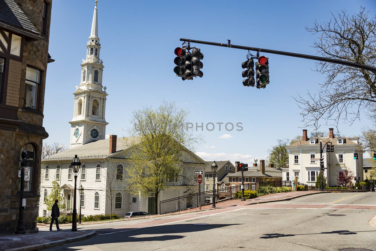
[[[45,142],[69,147],[73,92],[80,83],[80,64],[86,55],[93,0],[54,1],[44,103]],[[261,1],[262,2],[262,1]],[[266,2],[264,2],[266,3]],[[178,5],[180,4],[180,5]],[[197,146],[205,160],[264,159],[277,139],[302,134],[302,118],[291,96],[315,91],[324,76],[311,71],[315,61],[274,54],[269,57],[270,84],[265,89],[242,84],[241,62],[247,51],[195,44],[204,54],[203,77],[182,81],[173,73],[174,48],[180,38],[316,55],[311,47],[317,35],[305,30],[314,20],[328,21],[331,11],[350,14],[360,6],[375,15],[374,0],[358,1],[98,1],[101,59],[107,86],[106,134],[124,135],[132,110],[175,101],[191,112],[190,121],[243,123],[243,130],[208,132]],[[295,69],[294,71],[292,69]],[[365,116],[340,133],[356,136],[370,124]],[[328,132],[330,126],[321,131]],[[311,132],[309,128],[308,132]],[[228,134],[230,136],[223,136]],[[125,135],[126,136],[126,135]],[[220,138],[220,136],[222,136]]]

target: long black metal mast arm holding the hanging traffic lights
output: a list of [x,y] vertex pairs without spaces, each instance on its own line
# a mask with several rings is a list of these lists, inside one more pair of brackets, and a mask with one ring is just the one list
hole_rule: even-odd
[[332,58],[327,58],[327,57],[318,57],[318,56],[311,56],[311,55],[299,54],[299,53],[293,53],[293,52],[287,52],[287,51],[276,51],[276,50],[241,46],[241,45],[232,45],[230,43],[222,44],[222,43],[215,43],[215,42],[206,42],[206,41],[199,41],[199,40],[186,39],[186,38],[180,38],[180,41],[197,43],[197,44],[215,45],[215,46],[220,46],[220,47],[229,47],[229,48],[235,48],[235,49],[241,49],[241,50],[259,51],[259,52],[279,54],[279,55],[290,56],[290,57],[301,57],[301,58],[324,61],[324,62],[329,62],[329,63],[334,63],[334,64],[347,65],[347,66],[351,66],[351,67],[355,67],[355,68],[359,68],[363,70],[368,70],[368,71],[372,71],[373,73],[376,73],[376,68],[368,66],[368,65],[361,65],[361,64],[356,64],[353,62],[347,62],[347,61],[332,59]]

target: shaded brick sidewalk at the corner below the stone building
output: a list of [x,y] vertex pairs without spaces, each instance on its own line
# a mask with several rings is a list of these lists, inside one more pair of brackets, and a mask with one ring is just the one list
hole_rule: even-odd
[[38,233],[32,234],[2,234],[0,235],[0,250],[26,251],[51,248],[88,239],[95,234],[95,231],[72,232],[71,229],[64,229],[62,231],[39,231]]

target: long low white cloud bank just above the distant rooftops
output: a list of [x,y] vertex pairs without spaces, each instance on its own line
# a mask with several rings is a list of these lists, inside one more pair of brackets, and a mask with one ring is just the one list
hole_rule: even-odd
[[221,161],[221,160],[230,160],[230,162],[235,165],[235,161],[240,161],[247,163],[250,166],[253,164],[254,159],[258,159],[258,163],[261,159],[266,160],[267,156],[253,156],[251,154],[241,154],[241,153],[206,153],[206,152],[197,152],[196,153],[201,159],[206,161]]

